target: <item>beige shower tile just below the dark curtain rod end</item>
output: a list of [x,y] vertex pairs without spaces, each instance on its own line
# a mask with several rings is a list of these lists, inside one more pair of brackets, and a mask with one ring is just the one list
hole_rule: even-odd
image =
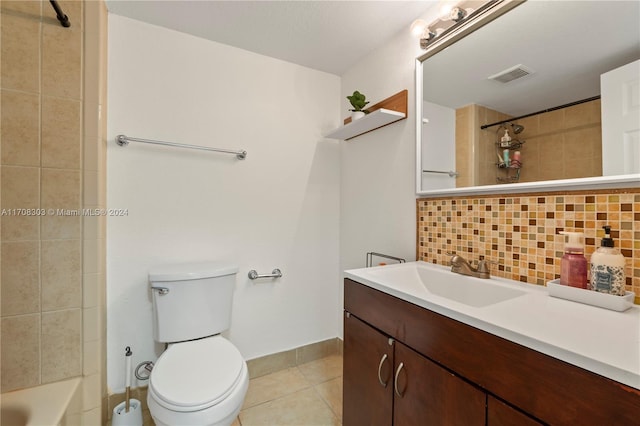
[[78,27],[43,26],[42,94],[81,99],[81,44],[82,32]]

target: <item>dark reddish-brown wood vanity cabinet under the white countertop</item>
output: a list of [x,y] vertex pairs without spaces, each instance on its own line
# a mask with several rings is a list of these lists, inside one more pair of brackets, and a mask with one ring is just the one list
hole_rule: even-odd
[[345,426],[640,424],[638,389],[355,281],[344,289]]

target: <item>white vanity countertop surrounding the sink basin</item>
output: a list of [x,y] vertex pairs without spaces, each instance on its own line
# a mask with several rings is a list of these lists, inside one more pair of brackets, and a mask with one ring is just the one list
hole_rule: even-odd
[[431,293],[421,281],[421,276],[429,274],[433,279],[448,279],[447,274],[459,279],[453,278],[460,276],[449,269],[427,262],[408,262],[351,269],[344,276],[640,389],[640,306],[624,312],[610,311],[550,297],[546,287],[497,277],[492,277],[490,283],[517,288],[523,294],[488,306],[469,306]]

